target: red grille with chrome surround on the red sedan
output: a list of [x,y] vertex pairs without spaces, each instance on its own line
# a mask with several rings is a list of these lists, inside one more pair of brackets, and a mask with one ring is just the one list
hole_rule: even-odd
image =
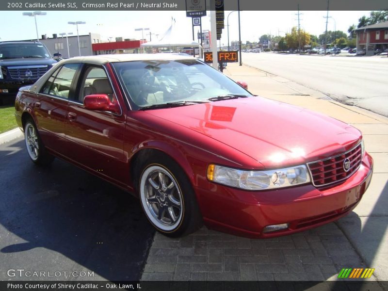
[[[350,162],[345,171],[344,163]],[[326,186],[352,176],[361,165],[361,144],[335,157],[307,163],[314,186]]]

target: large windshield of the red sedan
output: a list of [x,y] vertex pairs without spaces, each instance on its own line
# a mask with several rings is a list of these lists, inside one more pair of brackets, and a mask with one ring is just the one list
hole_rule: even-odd
[[224,95],[252,96],[224,74],[195,59],[132,61],[113,66],[135,109]]

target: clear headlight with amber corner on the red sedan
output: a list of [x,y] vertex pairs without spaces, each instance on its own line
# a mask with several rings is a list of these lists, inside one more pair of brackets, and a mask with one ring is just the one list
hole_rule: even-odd
[[267,190],[306,184],[310,182],[305,165],[268,171],[244,171],[210,164],[210,181],[244,190]]

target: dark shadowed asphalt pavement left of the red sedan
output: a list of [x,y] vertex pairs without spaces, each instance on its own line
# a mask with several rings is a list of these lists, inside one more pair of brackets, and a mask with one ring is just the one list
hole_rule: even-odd
[[0,161],[0,280],[140,279],[154,230],[137,199],[59,159],[36,167],[22,138]]

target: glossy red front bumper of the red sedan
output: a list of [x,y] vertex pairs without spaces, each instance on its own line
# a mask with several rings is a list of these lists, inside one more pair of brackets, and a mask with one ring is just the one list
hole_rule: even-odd
[[[372,178],[372,157],[366,152],[358,171],[339,185],[311,184],[268,191],[243,191],[209,182],[196,188],[205,224],[249,238],[270,238],[321,226],[347,215],[359,203]],[[287,229],[263,232],[265,226],[288,223]]]

